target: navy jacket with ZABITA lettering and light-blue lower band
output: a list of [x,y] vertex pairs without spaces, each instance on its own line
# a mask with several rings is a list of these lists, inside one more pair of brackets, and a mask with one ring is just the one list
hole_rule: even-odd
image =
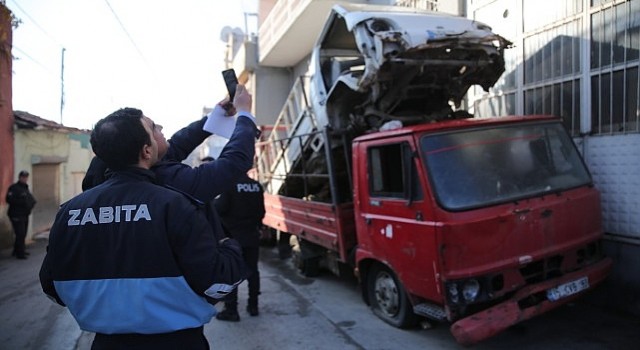
[[140,168],[114,172],[64,203],[40,271],[45,293],[83,330],[154,334],[209,322],[211,295],[233,275],[202,203],[153,183]]

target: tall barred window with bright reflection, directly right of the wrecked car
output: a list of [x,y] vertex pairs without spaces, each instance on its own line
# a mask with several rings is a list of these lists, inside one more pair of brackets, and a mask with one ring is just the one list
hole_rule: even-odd
[[[545,16],[527,15],[545,9]],[[562,118],[580,133],[580,42],[582,1],[523,1],[523,92],[525,114]]]

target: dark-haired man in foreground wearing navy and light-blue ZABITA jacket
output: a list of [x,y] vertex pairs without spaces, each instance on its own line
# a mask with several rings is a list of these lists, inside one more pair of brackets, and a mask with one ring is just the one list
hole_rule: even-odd
[[240,247],[216,239],[202,202],[156,185],[150,168],[168,145],[141,111],[101,120],[91,143],[111,176],[63,204],[43,290],[96,333],[94,348],[208,349],[202,326],[215,308],[207,301],[242,280]]

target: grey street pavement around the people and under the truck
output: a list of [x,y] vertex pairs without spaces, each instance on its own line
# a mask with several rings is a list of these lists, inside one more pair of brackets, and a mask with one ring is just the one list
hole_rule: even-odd
[[[46,237],[46,236],[45,236]],[[27,260],[0,252],[0,350],[87,350],[93,334],[81,331],[66,308],[40,288],[46,239],[31,243]],[[261,250],[260,315],[250,317],[240,286],[240,322],[213,319],[205,326],[212,349],[463,349],[447,325],[400,330],[375,317],[352,279],[298,274],[275,248]],[[221,308],[221,305],[218,306]],[[585,298],[525,321],[469,349],[639,349],[640,319],[605,310]]]

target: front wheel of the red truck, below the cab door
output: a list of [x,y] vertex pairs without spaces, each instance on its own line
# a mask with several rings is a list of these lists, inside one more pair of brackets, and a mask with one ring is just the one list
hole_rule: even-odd
[[367,293],[373,313],[394,327],[414,326],[418,318],[395,274],[378,264],[372,266],[367,276]]

